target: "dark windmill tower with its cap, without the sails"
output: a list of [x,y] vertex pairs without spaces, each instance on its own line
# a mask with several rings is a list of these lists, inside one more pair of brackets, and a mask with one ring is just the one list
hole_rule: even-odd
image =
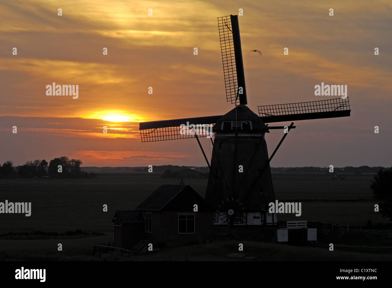
[[276,222],[267,213],[275,196],[264,122],[240,104],[222,116],[212,131],[215,139],[205,200],[216,211],[214,224]]

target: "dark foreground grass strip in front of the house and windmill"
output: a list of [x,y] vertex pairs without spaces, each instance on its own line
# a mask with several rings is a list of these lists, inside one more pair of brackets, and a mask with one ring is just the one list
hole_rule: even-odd
[[[166,248],[158,253],[127,255],[102,255],[101,258],[91,254],[95,243],[110,241],[111,236],[56,240],[0,240],[0,246],[7,246],[7,253],[0,252],[0,261],[38,260],[38,261],[238,261],[228,257],[230,253],[241,253],[256,257],[258,261],[392,261],[390,252],[370,254],[366,250],[344,251],[336,246],[331,252],[327,247],[296,247],[285,244],[241,241],[243,252],[238,252],[238,241],[214,241],[198,245]],[[26,241],[29,242],[28,249]],[[62,243],[63,251],[57,251],[57,244]],[[72,247],[72,248],[70,248]],[[240,260],[244,261],[244,260]]]

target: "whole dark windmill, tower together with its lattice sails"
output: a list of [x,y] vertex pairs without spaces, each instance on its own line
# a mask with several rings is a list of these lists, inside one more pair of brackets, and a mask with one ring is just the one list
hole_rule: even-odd
[[[348,98],[259,106],[255,114],[246,106],[238,16],[219,17],[218,29],[226,99],[234,109],[218,116],[142,122],[142,142],[196,138],[210,168],[205,200],[215,210],[215,225],[274,224],[276,215],[268,212],[268,204],[275,201],[269,163],[295,126],[265,123],[350,116]],[[286,130],[269,158],[265,133],[271,129]],[[211,165],[199,137],[211,139]]]

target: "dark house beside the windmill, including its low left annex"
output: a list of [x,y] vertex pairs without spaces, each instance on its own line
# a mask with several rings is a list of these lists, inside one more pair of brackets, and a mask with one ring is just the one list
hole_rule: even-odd
[[136,211],[116,215],[114,246],[120,248],[140,240],[156,248],[200,243],[212,234],[212,208],[189,185],[162,185]]

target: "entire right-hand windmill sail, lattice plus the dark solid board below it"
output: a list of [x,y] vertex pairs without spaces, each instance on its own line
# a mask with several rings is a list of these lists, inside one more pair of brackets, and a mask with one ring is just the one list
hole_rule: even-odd
[[258,106],[264,123],[350,116],[348,97]]

